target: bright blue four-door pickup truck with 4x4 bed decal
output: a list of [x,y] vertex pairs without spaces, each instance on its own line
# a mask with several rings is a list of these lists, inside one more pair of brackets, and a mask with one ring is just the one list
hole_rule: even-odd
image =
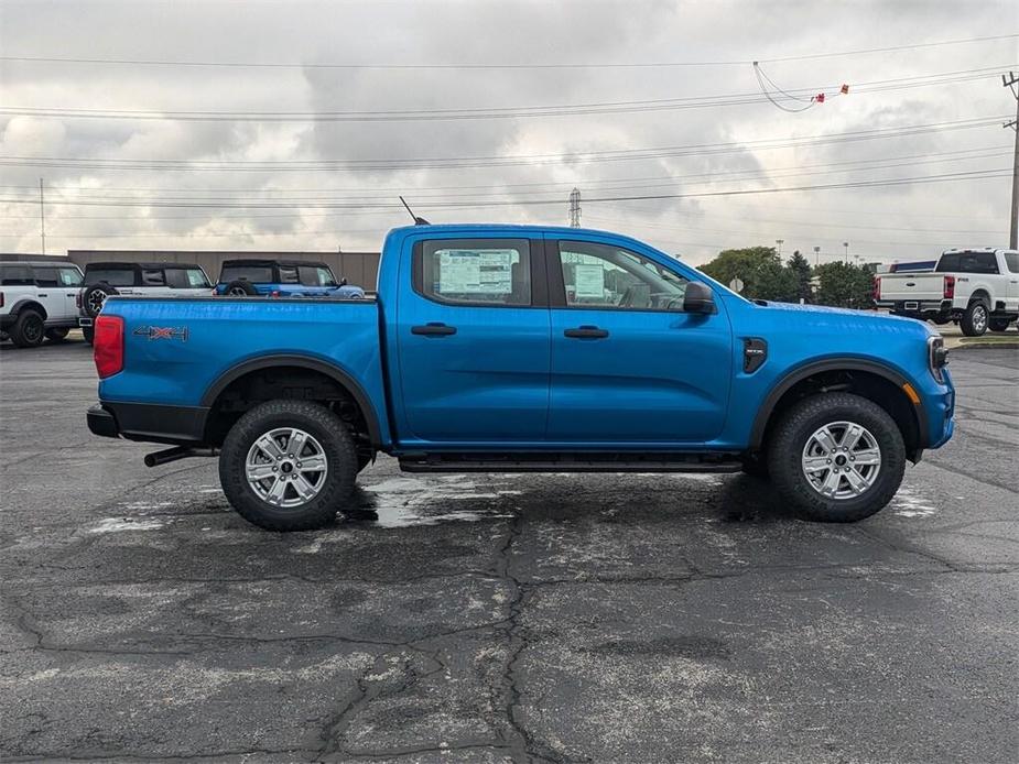
[[[751,302],[639,241],[427,226],[365,299],[111,296],[93,433],[218,456],[246,519],[322,526],[382,451],[410,472],[736,472],[866,517],[953,430],[926,325]],[[676,496],[682,501],[682,496]]]

